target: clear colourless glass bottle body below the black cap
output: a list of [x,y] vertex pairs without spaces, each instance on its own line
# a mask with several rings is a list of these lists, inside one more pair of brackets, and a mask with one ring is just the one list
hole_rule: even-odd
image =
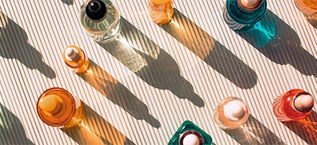
[[109,0],[101,0],[106,5],[106,14],[99,20],[93,20],[86,14],[86,1],[80,9],[80,21],[86,33],[96,42],[107,43],[115,40],[119,36],[121,22],[120,15],[115,5]]

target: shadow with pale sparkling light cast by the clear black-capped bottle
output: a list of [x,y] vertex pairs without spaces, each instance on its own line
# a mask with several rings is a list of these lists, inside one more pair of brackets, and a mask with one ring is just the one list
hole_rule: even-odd
[[172,56],[125,18],[121,17],[121,25],[119,39],[99,45],[154,88],[170,90],[178,98],[187,98],[198,107],[204,106],[193,85],[180,75],[178,64]]

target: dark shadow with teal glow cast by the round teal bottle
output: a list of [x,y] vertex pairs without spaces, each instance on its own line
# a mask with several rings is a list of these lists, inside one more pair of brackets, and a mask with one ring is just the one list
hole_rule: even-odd
[[247,33],[237,33],[272,62],[290,64],[303,75],[317,77],[317,60],[301,47],[298,35],[270,10]]

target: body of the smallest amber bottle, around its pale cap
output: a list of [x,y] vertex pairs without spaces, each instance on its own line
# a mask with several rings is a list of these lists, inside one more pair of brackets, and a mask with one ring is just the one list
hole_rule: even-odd
[[75,61],[67,60],[66,54],[65,54],[65,50],[68,48],[67,47],[66,49],[64,49],[64,52],[62,55],[64,62],[75,73],[80,74],[80,73],[86,72],[86,70],[89,68],[89,60],[88,60],[87,55],[84,53],[84,51],[82,51],[82,49],[80,49],[79,47],[77,47],[75,45],[71,45],[69,47],[74,48],[78,51],[78,59]]

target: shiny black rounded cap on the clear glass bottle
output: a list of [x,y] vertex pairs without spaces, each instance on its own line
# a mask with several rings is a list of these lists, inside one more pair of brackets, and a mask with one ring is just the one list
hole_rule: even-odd
[[89,1],[86,7],[86,14],[89,18],[93,20],[99,20],[104,18],[104,15],[107,12],[106,5],[103,1],[100,0],[92,0]]

